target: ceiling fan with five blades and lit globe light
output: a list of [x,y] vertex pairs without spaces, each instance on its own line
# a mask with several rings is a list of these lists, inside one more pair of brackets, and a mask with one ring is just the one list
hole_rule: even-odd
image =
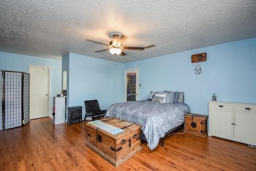
[[105,50],[109,50],[109,52],[113,55],[119,55],[120,54],[120,56],[124,56],[125,53],[122,50],[144,50],[145,49],[145,48],[122,46],[122,44],[124,44],[124,42],[126,42],[128,40],[128,37],[126,37],[126,36],[121,36],[118,39],[119,36],[117,34],[114,34],[113,37],[114,37],[114,40],[110,41],[109,45],[101,43],[101,42],[96,42],[94,40],[88,40],[88,39],[86,39],[86,40],[90,41],[90,42],[94,42],[94,43],[103,44],[105,46],[108,46],[107,49],[98,50],[98,51],[95,51],[95,52],[102,52],[102,51],[105,51]]

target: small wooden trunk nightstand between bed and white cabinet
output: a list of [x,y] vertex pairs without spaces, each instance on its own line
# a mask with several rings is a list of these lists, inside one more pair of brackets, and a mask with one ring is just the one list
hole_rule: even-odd
[[207,115],[188,113],[185,117],[185,133],[190,133],[200,137],[207,136]]

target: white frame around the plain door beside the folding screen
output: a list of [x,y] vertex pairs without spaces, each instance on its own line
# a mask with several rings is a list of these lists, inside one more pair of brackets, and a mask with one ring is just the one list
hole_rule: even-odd
[[[48,117],[51,117],[52,114],[51,114],[51,99],[50,99],[50,97],[51,97],[51,80],[52,80],[52,78],[51,78],[52,74],[51,73],[52,73],[52,69],[51,69],[50,66],[28,65],[28,73],[29,74],[31,73],[31,68],[32,67],[34,67],[34,68],[48,68],[49,69],[49,75],[48,75],[48,78],[49,78],[49,85],[48,85],[48,89],[49,89],[49,93],[48,93],[48,108],[49,109],[48,109],[48,113],[49,113],[49,115],[48,115]],[[31,87],[30,84],[31,84],[31,81],[29,82],[29,87]],[[29,94],[31,95],[30,89],[29,89]],[[29,103],[30,103],[30,100],[31,100],[31,98],[29,98]],[[31,107],[31,105],[29,106],[29,110],[30,110],[30,107]],[[31,115],[31,113],[30,113],[30,115]],[[30,120],[30,115],[29,115],[29,120]]]

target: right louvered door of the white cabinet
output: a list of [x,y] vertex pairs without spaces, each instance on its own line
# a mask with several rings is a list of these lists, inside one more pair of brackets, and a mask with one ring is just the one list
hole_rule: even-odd
[[234,111],[234,137],[256,141],[256,113]]

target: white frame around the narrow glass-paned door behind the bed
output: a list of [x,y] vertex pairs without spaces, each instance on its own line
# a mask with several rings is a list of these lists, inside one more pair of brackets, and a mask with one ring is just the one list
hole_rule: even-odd
[[136,98],[139,100],[139,68],[124,70],[124,101],[127,101],[127,73],[135,72],[136,73]]

